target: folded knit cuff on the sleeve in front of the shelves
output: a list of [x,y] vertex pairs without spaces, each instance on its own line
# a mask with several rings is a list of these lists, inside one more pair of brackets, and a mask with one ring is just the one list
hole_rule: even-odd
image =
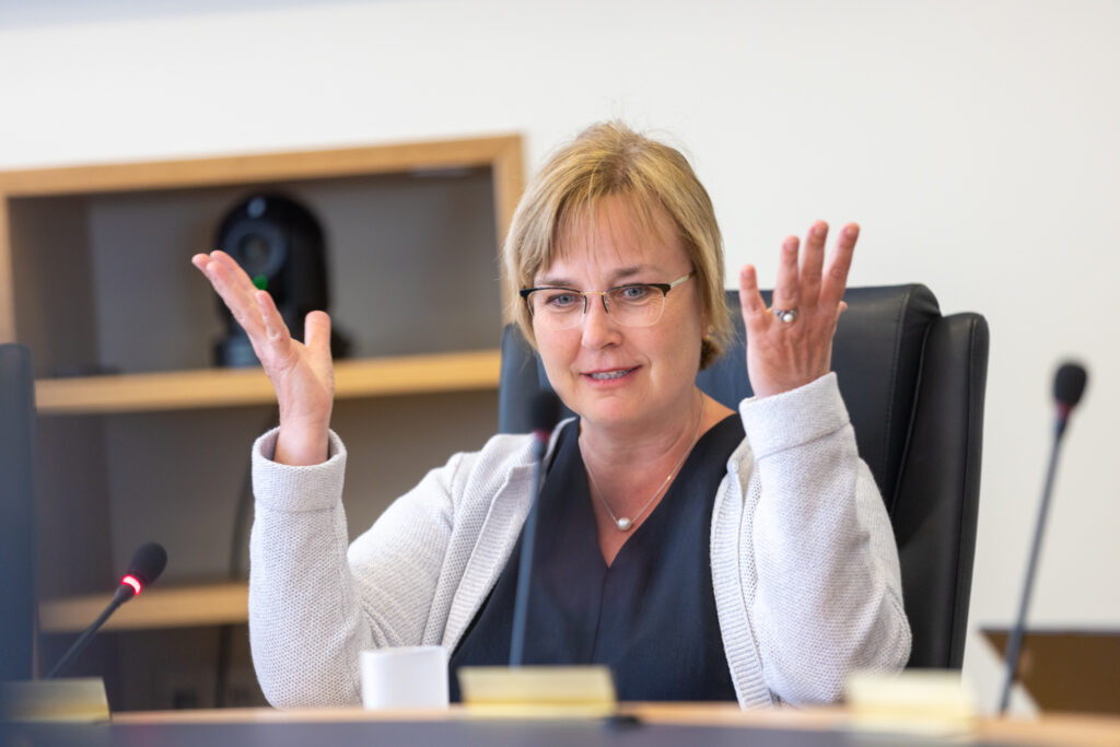
[[330,431],[327,460],[306,467],[272,461],[279,428],[253,443],[253,495],[256,503],[272,511],[321,511],[338,505],[343,497],[346,447]]

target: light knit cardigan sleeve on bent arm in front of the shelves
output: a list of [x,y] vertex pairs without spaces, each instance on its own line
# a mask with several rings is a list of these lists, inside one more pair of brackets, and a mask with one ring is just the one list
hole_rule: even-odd
[[361,651],[420,642],[463,455],[430,471],[347,549],[342,440],[330,433],[327,461],[291,467],[271,460],[276,438],[270,431],[253,446],[249,632],[256,676],[276,707],[357,703]]

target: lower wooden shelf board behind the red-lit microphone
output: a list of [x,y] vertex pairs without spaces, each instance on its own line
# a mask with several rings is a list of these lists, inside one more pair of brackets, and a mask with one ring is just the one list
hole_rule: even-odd
[[[39,603],[40,633],[80,633],[112,594],[96,594]],[[105,623],[105,631],[139,631],[244,623],[249,619],[249,587],[244,582],[153,588],[127,603]]]

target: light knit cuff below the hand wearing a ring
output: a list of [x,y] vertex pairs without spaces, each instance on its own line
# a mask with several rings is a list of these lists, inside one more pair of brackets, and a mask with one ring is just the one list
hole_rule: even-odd
[[788,392],[743,400],[739,414],[756,459],[809,443],[849,423],[834,373]]

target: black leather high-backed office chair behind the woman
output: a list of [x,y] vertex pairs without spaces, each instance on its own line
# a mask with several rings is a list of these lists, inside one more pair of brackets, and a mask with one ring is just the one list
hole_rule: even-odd
[[[908,665],[960,669],[976,550],[988,324],[979,314],[941,316],[933,293],[918,284],[849,288],[844,300],[832,370],[898,542],[914,634]],[[727,302],[736,344],[697,383],[736,409],[752,391],[738,292],[728,291]],[[532,348],[515,326],[506,327],[498,430],[530,430],[530,402],[547,386]]]

